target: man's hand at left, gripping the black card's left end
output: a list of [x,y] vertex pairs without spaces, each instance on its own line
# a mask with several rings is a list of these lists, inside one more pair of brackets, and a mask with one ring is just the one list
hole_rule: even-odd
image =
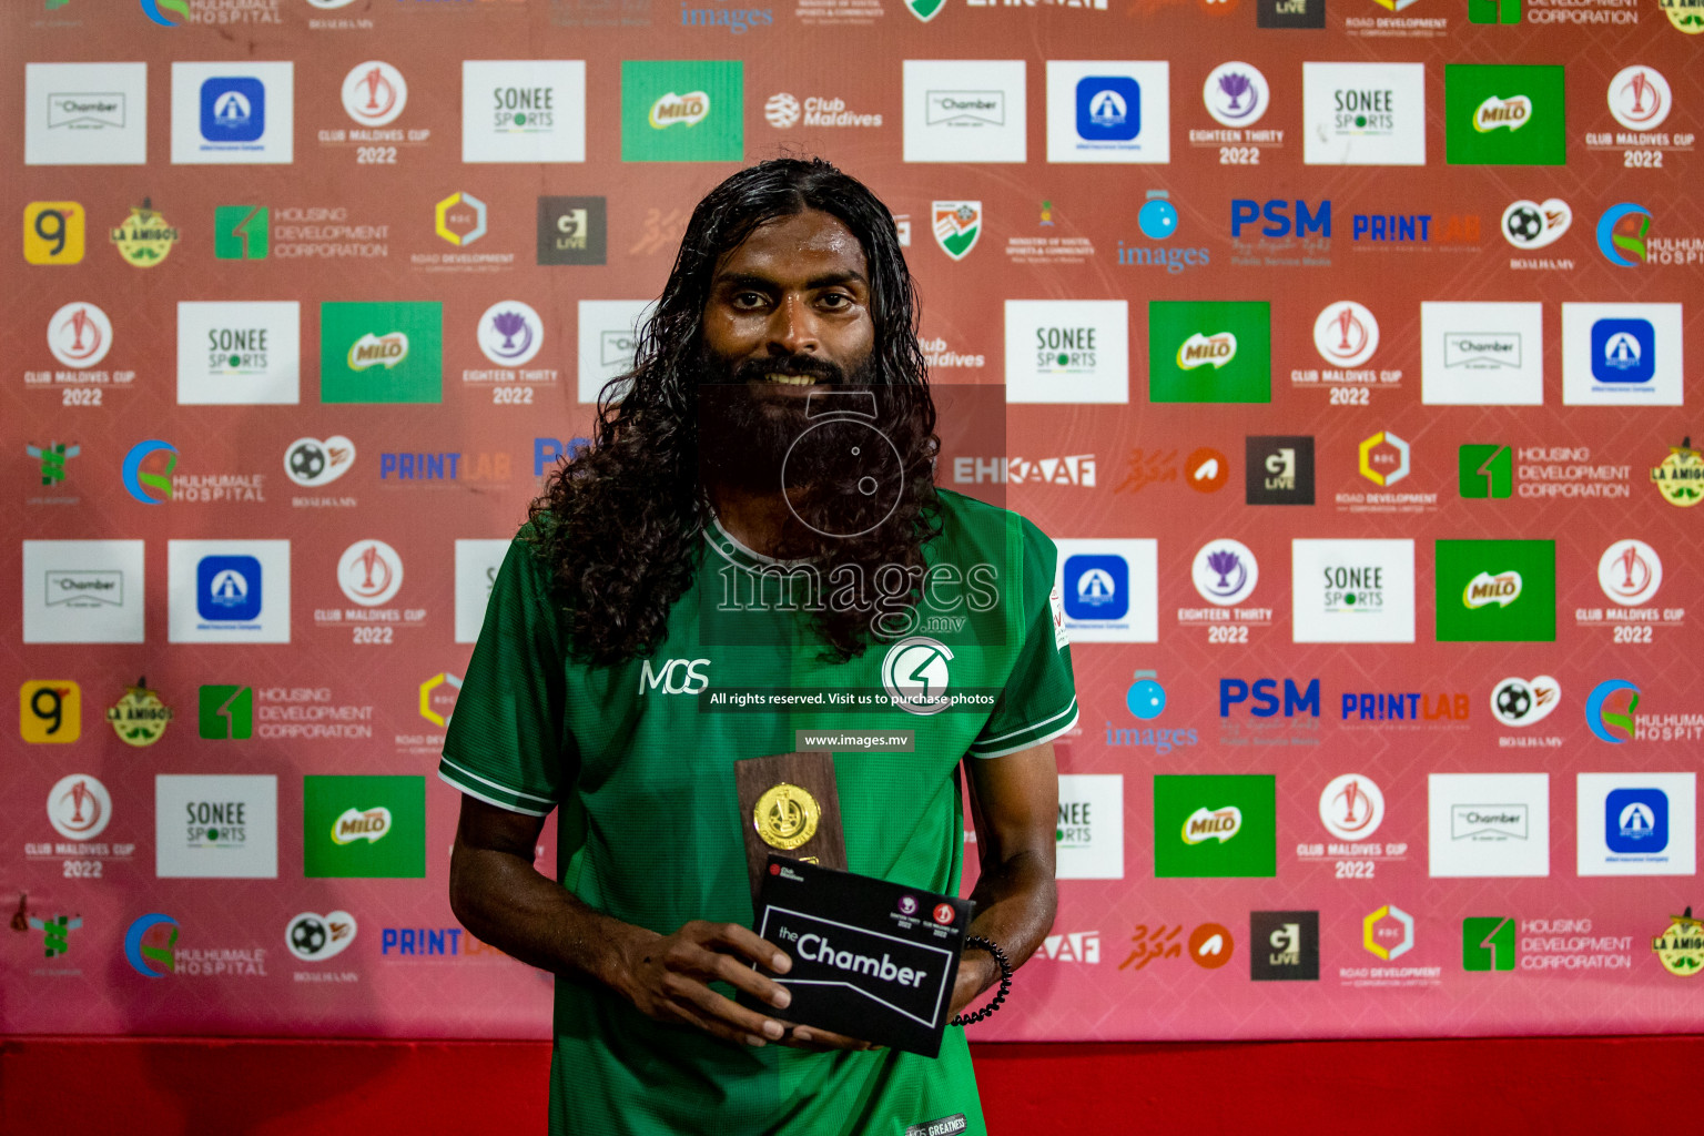
[[763,1046],[786,1034],[775,1018],[746,1010],[709,986],[721,979],[777,1010],[792,1001],[784,986],[751,969],[755,962],[786,974],[792,959],[738,923],[694,920],[673,935],[636,937],[624,955],[620,991],[656,1022],[695,1025],[745,1046]]

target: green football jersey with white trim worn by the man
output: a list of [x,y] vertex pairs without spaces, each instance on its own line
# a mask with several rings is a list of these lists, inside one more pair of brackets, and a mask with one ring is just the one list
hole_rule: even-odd
[[[489,804],[561,807],[557,877],[591,908],[671,933],[751,927],[734,761],[830,748],[850,870],[953,894],[964,853],[958,765],[1077,722],[1056,550],[1016,513],[942,492],[925,545],[932,600],[889,615],[857,659],[823,657],[808,611],[838,589],[719,526],[653,657],[569,657],[550,574],[527,530],[492,586],[440,775]],[[910,734],[905,753],[813,744],[806,732]],[[799,743],[806,743],[801,746]],[[820,739],[816,739],[820,741]],[[964,1030],[941,1056],[733,1046],[663,1025],[607,988],[559,978],[552,1133],[983,1133]],[[959,1119],[963,1117],[963,1119]]]

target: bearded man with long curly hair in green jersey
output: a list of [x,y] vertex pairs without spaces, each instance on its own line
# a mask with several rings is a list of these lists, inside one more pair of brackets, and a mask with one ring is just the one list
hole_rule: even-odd
[[[886,206],[821,160],[711,191],[593,445],[509,548],[440,765],[457,916],[557,974],[552,1133],[985,1131],[963,1029],[929,1059],[724,993],[791,1000],[757,969],[791,959],[748,930],[733,765],[801,729],[913,737],[833,754],[850,870],[956,892],[963,766],[968,933],[1021,964],[1051,927],[1051,739],[1077,720],[1056,552],[935,489],[937,451]],[[533,869],[556,807],[561,882]],[[953,1010],[999,976],[966,947]]]

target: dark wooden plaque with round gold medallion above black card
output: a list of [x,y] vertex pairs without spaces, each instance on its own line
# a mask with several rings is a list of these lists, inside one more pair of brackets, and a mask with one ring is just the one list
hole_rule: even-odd
[[734,761],[734,789],[753,896],[770,853],[845,870],[835,760],[826,749]]

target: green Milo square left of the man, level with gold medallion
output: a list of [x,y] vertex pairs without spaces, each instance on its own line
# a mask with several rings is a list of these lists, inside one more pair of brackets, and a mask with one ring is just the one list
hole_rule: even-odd
[[423,879],[424,777],[303,777],[302,874]]

